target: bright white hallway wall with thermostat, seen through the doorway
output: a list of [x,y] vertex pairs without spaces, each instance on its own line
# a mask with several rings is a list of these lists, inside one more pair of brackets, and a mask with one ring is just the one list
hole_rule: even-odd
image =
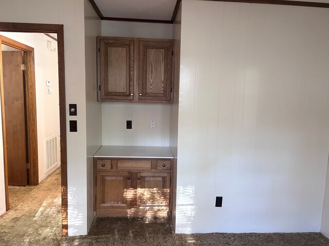
[[[45,140],[56,135],[58,140],[57,149],[60,150],[58,54],[47,49],[47,42],[56,45],[57,42],[43,33],[0,32],[0,35],[34,48],[36,126],[39,182],[41,182],[61,165],[60,151],[58,151],[58,164],[46,170]],[[50,87],[46,86],[46,80],[51,81]],[[47,93],[47,88],[52,89],[51,94]]]

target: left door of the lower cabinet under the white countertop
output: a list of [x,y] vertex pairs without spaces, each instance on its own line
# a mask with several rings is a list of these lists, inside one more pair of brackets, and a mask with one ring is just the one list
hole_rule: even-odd
[[97,172],[97,210],[129,209],[135,199],[131,192],[131,173]]

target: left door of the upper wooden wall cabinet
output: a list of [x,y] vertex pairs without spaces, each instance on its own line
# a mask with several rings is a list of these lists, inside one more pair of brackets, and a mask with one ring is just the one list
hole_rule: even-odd
[[99,39],[99,99],[134,99],[134,40]]

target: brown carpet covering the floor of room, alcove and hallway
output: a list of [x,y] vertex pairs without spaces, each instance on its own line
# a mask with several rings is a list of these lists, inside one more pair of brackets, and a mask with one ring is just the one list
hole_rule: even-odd
[[60,169],[38,187],[10,187],[0,245],[328,246],[320,233],[174,234],[168,219],[97,217],[87,236],[61,237]]

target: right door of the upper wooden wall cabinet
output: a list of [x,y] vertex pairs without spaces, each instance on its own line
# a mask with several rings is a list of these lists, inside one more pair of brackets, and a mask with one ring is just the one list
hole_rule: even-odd
[[171,101],[171,41],[139,41],[139,100]]

